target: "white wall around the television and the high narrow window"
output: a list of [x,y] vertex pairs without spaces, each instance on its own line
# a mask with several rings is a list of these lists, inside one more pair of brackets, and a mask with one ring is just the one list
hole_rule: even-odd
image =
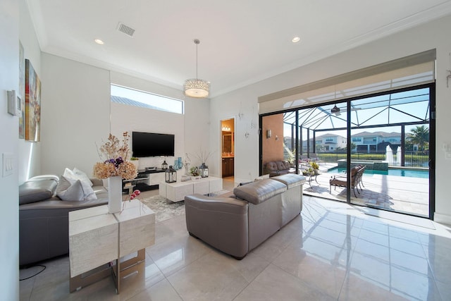
[[[181,90],[116,72],[111,72],[111,83],[182,99],[185,102],[183,115],[112,104],[111,133],[113,135],[121,135],[124,131],[132,130],[175,134],[175,156],[185,159],[185,154],[188,154],[192,164],[195,165],[202,163],[196,159],[200,149],[214,152],[214,149],[209,149],[209,99],[185,97]],[[167,163],[171,165],[173,161],[173,158],[168,158]],[[142,158],[140,168],[161,166],[161,163],[163,158]],[[214,175],[213,171],[211,175]]]

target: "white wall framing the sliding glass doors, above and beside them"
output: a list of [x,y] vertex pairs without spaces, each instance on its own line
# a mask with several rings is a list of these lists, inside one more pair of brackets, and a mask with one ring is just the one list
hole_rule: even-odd
[[[219,140],[219,121],[231,114],[243,113],[241,121],[237,122],[237,140],[235,149],[235,176],[252,180],[258,173],[258,138],[250,136],[250,140],[243,138],[243,133],[249,128],[249,123],[257,118],[254,107],[257,106],[259,96],[285,90],[290,87],[303,85],[316,80],[330,78],[334,75],[347,73],[378,63],[398,59],[410,54],[416,54],[428,49],[437,49],[437,133],[436,133],[436,187],[435,187],[435,221],[451,223],[451,202],[448,201],[447,189],[448,173],[451,160],[445,159],[440,150],[444,142],[451,143],[447,129],[451,128],[451,119],[444,116],[451,110],[451,88],[446,87],[446,70],[451,69],[449,38],[451,17],[441,18],[425,25],[415,27],[404,32],[390,35],[376,42],[345,51],[302,68],[291,70],[254,85],[249,85],[235,92],[211,99],[211,145],[215,146]],[[440,113],[441,112],[441,113]],[[254,135],[257,136],[257,135]],[[220,163],[217,158],[216,165]],[[249,173],[251,176],[249,176]]]

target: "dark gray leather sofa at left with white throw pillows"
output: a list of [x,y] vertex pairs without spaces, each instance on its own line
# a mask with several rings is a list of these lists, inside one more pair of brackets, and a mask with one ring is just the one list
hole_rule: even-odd
[[20,185],[19,265],[67,254],[69,211],[104,204],[108,204],[108,192],[98,179],[50,175],[30,178]]

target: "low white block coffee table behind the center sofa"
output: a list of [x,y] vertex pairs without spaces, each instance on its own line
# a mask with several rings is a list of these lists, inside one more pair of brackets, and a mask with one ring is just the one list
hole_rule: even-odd
[[159,195],[166,197],[171,202],[180,202],[185,196],[194,193],[208,195],[223,189],[223,179],[215,177],[200,178],[198,180],[187,180],[185,182],[159,183]]

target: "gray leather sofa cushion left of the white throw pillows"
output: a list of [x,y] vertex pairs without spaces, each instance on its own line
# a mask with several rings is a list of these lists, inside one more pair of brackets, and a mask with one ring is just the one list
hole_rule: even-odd
[[19,204],[50,199],[56,190],[56,180],[32,180],[19,186]]

